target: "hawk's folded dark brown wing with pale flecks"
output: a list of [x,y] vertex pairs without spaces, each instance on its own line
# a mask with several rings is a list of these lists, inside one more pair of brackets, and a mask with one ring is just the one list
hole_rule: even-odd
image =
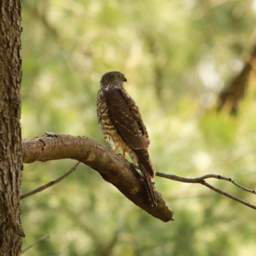
[[150,140],[140,110],[124,89],[106,92],[108,115],[116,131],[131,149],[148,148]]

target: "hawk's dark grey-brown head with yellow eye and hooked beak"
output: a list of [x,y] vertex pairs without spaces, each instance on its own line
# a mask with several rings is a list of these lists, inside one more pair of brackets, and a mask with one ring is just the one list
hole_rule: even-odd
[[124,86],[124,82],[127,82],[124,74],[118,71],[111,71],[104,74],[100,80],[100,84],[103,87],[118,87],[122,88]]

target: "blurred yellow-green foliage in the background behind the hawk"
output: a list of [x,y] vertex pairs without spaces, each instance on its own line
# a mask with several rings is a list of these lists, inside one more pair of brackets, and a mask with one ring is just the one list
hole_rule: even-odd
[[[159,172],[218,173],[255,189],[255,74],[237,118],[216,113],[221,88],[255,44],[251,0],[23,0],[22,136],[44,132],[104,142],[96,95],[102,74],[124,72]],[[71,160],[26,164],[22,192],[56,179]],[[175,211],[162,223],[100,175],[79,166],[22,200],[26,255],[256,255],[255,211],[199,184],[156,177]],[[256,203],[220,180],[218,188]]]

